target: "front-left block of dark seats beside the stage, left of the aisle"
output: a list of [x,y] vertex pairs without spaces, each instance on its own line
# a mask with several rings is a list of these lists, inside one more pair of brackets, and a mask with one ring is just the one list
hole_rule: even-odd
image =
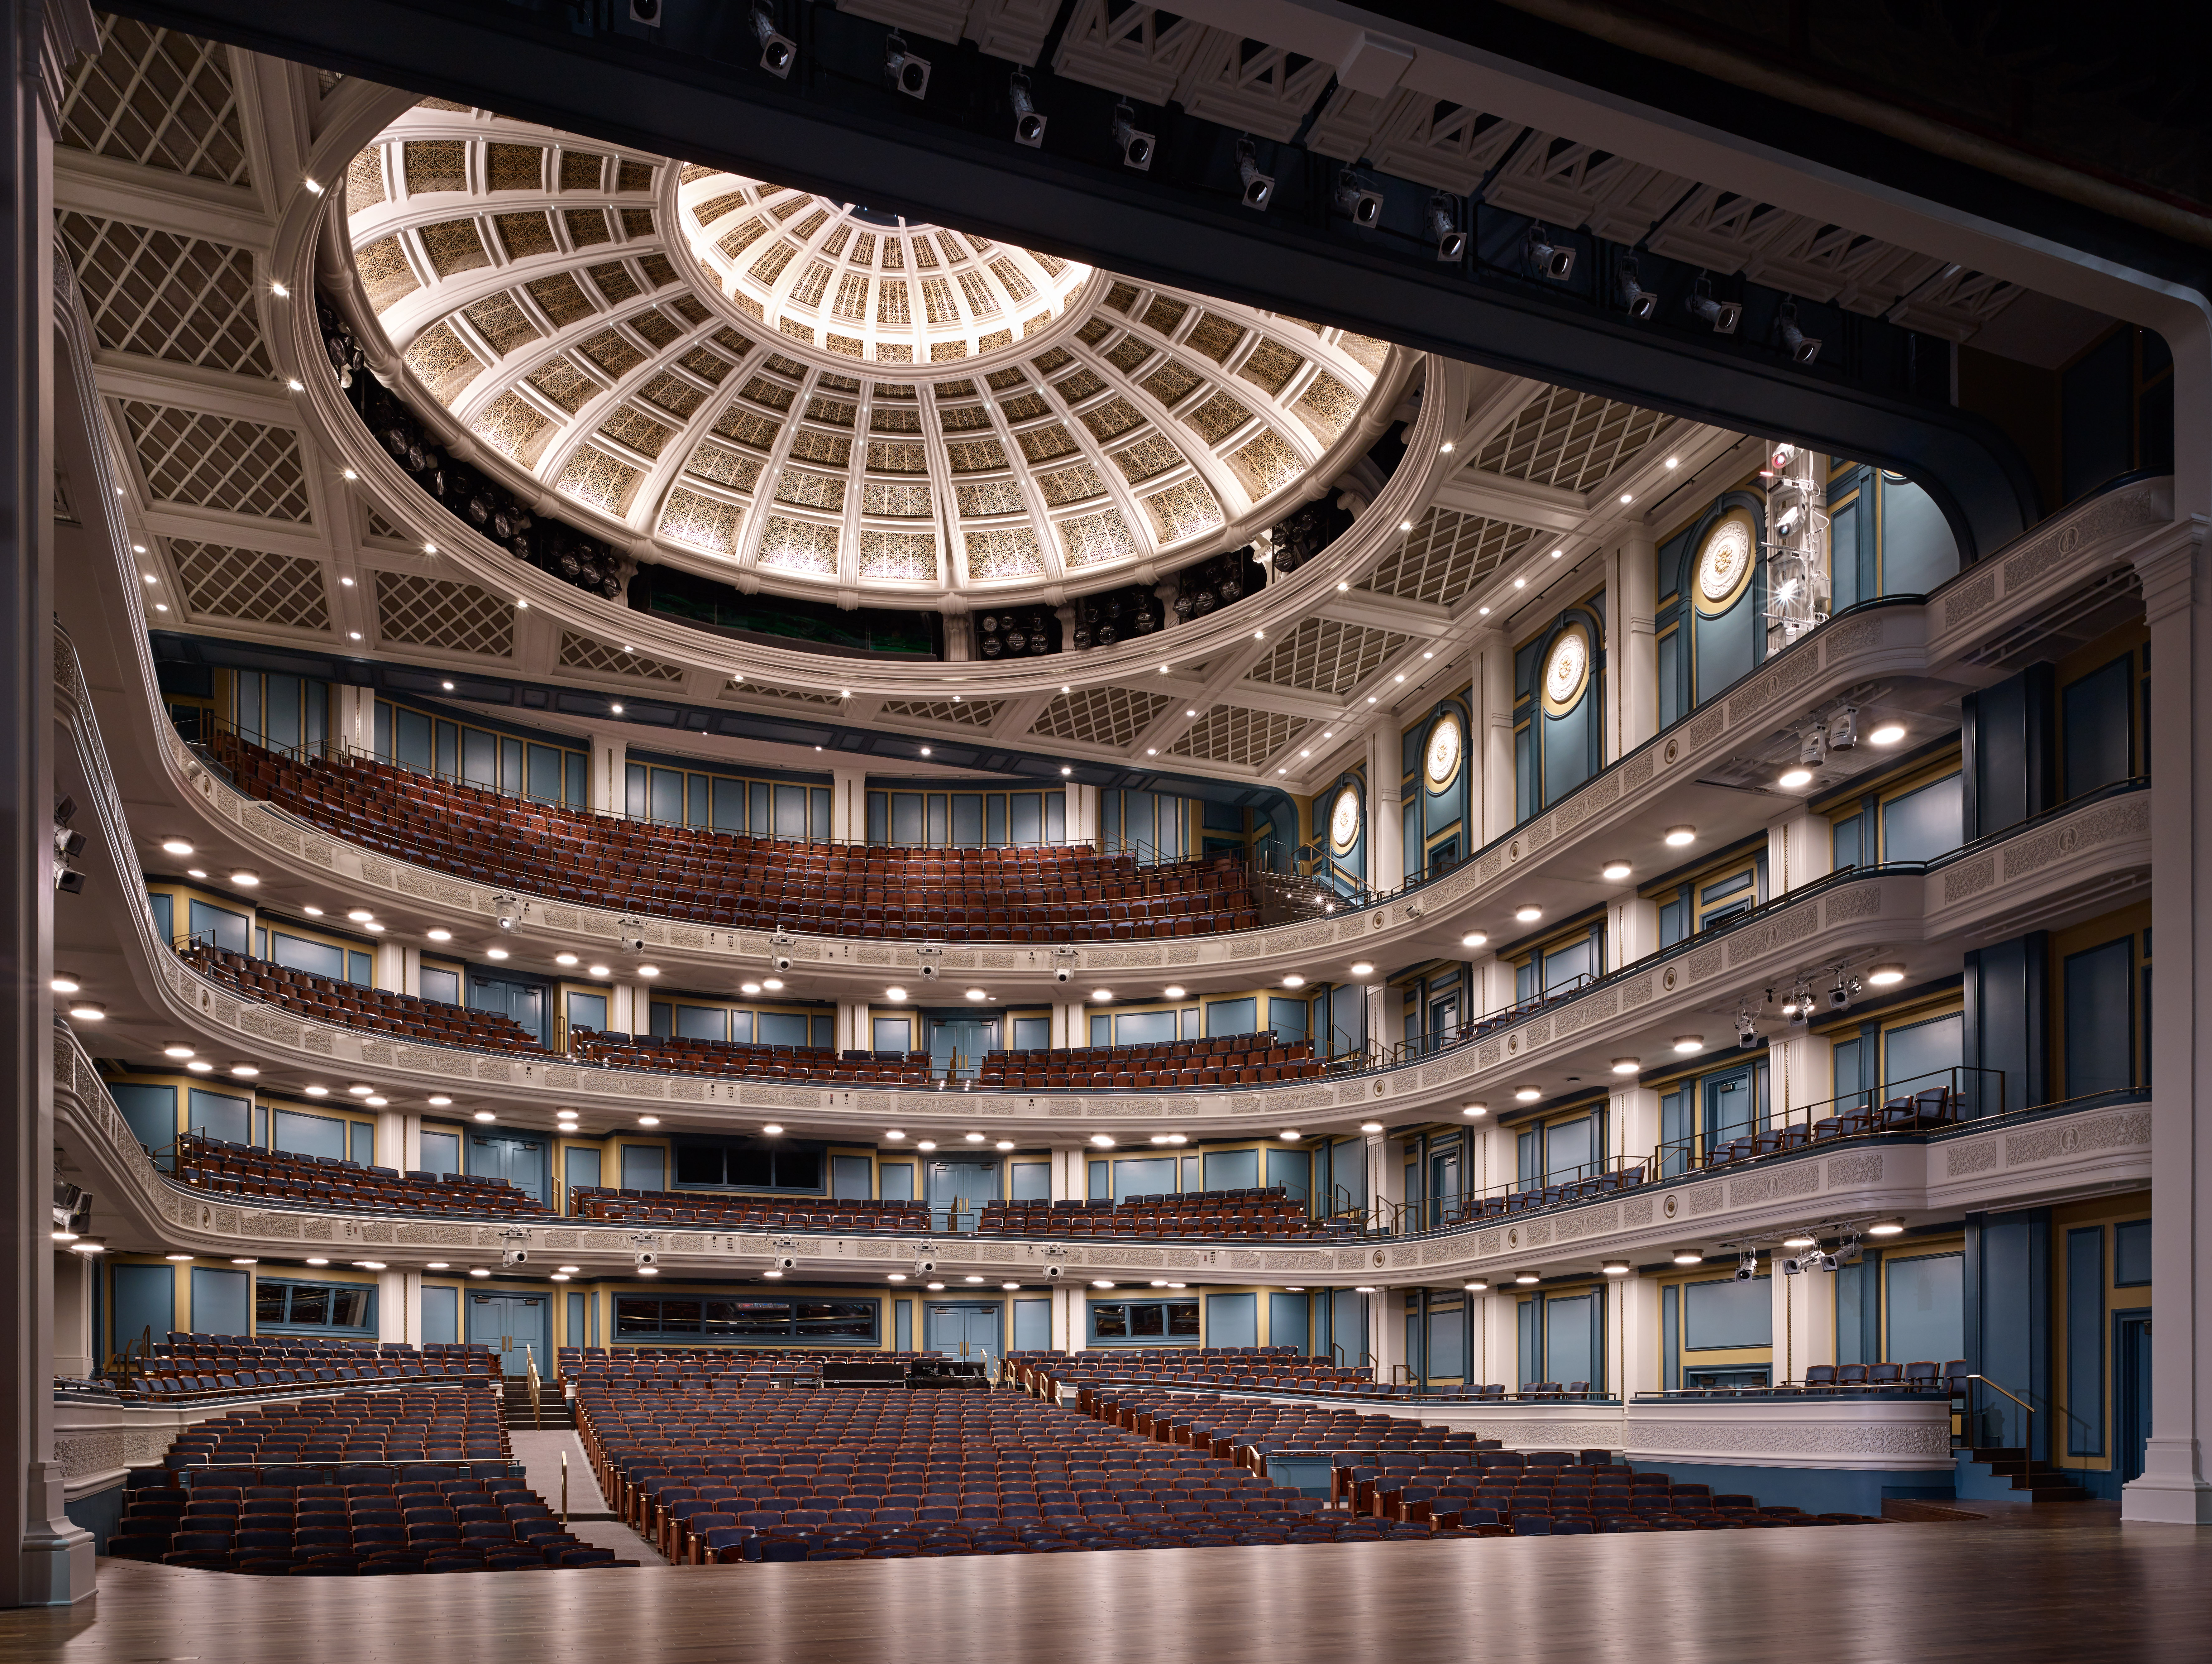
[[111,1556],[279,1578],[637,1564],[582,1542],[538,1491],[509,1476],[425,1471],[338,1485],[285,1483],[283,1471],[254,1471],[259,1483],[246,1485],[179,1478],[201,1476],[133,1476]]

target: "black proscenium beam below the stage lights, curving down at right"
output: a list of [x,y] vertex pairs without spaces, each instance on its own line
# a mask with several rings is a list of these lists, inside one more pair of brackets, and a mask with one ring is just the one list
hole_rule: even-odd
[[[1553,292],[1498,263],[1436,261],[1422,246],[1429,193],[1420,186],[1398,181],[1394,228],[1352,230],[1327,206],[1336,164],[1296,146],[1261,146],[1263,166],[1281,188],[1276,208],[1252,212],[1225,188],[1234,179],[1232,133],[1172,106],[1146,111],[1144,124],[1164,133],[1161,162],[1152,175],[1130,173],[1106,135],[1113,95],[1051,77],[1042,64],[1031,75],[1055,128],[1046,148],[1022,148],[1011,131],[1000,131],[1011,128],[1011,115],[991,104],[1002,97],[1009,64],[973,46],[927,42],[938,80],[927,102],[905,100],[874,71],[887,31],[830,7],[801,0],[776,7],[779,24],[801,46],[787,82],[752,64],[759,49],[745,31],[745,4],[668,7],[664,29],[633,24],[624,0],[560,7],[117,0],[115,9],[613,144],[896,208],[1141,279],[1882,462],[1936,496],[1969,560],[2039,513],[2013,445],[1993,425],[1929,396],[1949,385],[1944,343],[1838,314],[1838,334],[1880,341],[1856,354],[1838,343],[1823,354],[1825,363],[1801,370],[1756,327],[1747,325],[1739,339],[1688,327],[1674,316],[1677,294],[1668,294],[1666,321],[1637,325],[1610,305],[1604,285],[1584,285],[1586,294]],[[1480,212],[1469,201],[1458,210]],[[1608,250],[1593,248],[1584,266],[1599,270],[1606,257]],[[1745,292],[1747,319],[1770,316],[1774,299],[1772,290]],[[1927,354],[1944,354],[1944,363],[1913,365],[1922,343]]]

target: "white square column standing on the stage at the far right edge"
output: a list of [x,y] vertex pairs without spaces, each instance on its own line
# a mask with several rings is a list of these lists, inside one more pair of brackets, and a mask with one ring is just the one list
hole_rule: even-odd
[[[2201,350],[2199,339],[2199,350]],[[2183,401],[2177,398],[2177,407]],[[2181,451],[2188,456],[2188,451]],[[2201,476],[2203,456],[2194,458]],[[2177,489],[2177,498],[2183,493]],[[2150,1441],[2143,1476],[2121,1491],[2124,1520],[2212,1525],[2203,1441],[2212,1429],[2212,1025],[2199,1022],[2199,954],[2212,954],[2212,914],[2199,883],[2212,865],[2212,591],[2199,575],[2205,522],[2183,520],[2137,558],[2150,624],[2150,872],[2159,916],[2174,929],[2150,994]],[[2208,989],[2212,994],[2212,989]]]

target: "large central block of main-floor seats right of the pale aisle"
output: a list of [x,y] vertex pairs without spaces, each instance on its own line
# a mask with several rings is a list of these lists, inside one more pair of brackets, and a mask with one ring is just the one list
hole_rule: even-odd
[[1429,1536],[1022,1394],[577,1387],[602,1491],[672,1560]]

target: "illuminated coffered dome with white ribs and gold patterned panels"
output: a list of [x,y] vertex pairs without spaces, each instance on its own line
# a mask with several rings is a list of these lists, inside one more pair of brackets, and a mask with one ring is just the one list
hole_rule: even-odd
[[1391,356],[442,106],[354,157],[345,206],[378,325],[489,451],[785,593],[998,604],[1248,542],[1365,447]]

